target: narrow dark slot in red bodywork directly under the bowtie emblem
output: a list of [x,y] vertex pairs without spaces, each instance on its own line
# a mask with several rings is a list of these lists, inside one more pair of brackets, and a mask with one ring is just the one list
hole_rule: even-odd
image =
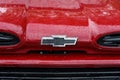
[[30,54],[86,54],[86,51],[82,50],[31,50]]

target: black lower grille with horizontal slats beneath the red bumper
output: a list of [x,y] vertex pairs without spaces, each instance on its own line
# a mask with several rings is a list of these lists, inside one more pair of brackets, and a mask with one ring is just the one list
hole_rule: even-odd
[[0,80],[120,80],[120,69],[2,68]]

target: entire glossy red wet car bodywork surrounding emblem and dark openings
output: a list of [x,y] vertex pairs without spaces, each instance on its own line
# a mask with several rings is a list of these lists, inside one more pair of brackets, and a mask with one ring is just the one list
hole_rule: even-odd
[[[0,46],[0,66],[117,67],[120,48],[103,47],[96,40],[120,32],[119,0],[0,0],[0,31],[20,38],[13,46]],[[52,35],[77,37],[75,46],[42,46]],[[72,50],[66,55],[31,51]],[[113,65],[114,64],[114,65]]]

